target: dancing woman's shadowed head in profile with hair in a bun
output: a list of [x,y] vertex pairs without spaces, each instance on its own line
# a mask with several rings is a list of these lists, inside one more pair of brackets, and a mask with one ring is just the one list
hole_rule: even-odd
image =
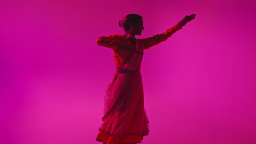
[[142,17],[137,14],[129,14],[119,21],[119,26],[125,31],[131,31],[135,35],[141,35],[144,29]]

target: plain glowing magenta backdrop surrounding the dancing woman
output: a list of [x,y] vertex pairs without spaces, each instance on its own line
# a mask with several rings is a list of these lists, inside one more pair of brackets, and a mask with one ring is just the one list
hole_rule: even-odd
[[102,35],[143,16],[146,38],[196,14],[144,51],[149,136],[142,143],[256,143],[254,1],[1,1],[0,143],[96,142],[115,71]]

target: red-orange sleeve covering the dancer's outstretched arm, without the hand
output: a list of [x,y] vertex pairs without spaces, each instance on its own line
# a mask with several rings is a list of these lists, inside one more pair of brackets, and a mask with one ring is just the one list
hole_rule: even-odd
[[166,41],[172,34],[181,29],[179,24],[174,25],[173,27],[167,29],[165,32],[161,34],[154,35],[153,37],[141,39],[143,44],[143,49],[149,49],[150,47],[161,43],[162,41]]

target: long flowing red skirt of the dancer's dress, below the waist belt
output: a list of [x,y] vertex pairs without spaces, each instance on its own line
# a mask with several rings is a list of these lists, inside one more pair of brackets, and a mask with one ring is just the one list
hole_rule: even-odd
[[96,141],[107,144],[141,143],[148,135],[141,73],[115,73],[104,97],[104,116]]

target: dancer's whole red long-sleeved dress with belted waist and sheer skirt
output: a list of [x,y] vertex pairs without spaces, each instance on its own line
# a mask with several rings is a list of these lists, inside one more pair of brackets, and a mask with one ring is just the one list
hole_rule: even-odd
[[140,73],[143,51],[166,41],[181,29],[174,25],[164,33],[144,39],[115,34],[100,37],[97,44],[112,48],[117,71],[104,97],[104,115],[96,141],[103,144],[141,143],[148,135],[148,117],[144,109],[144,94]]

